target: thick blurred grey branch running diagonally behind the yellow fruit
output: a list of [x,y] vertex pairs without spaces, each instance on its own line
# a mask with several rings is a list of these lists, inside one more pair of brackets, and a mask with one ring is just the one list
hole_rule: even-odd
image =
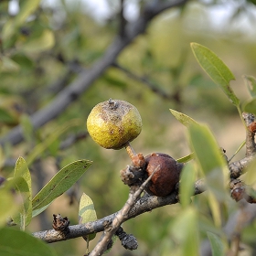
[[[146,5],[142,15],[137,19],[137,21],[126,25],[127,29],[125,29],[125,37],[116,37],[110,47],[106,50],[104,56],[96,61],[91,69],[81,72],[77,80],[74,80],[68,88],[59,92],[59,95],[54,101],[50,102],[45,108],[31,115],[30,120],[34,129],[37,129],[45,123],[48,123],[50,120],[56,118],[69,106],[71,102],[77,100],[84,91],[87,91],[92,82],[97,80],[101,74],[108,69],[112,63],[114,63],[123,48],[127,47],[135,37],[144,33],[148,23],[155,16],[168,8],[184,5],[187,1],[188,0],[176,0],[157,6]],[[24,135],[22,127],[18,125],[7,133],[5,137],[0,139],[0,144],[19,144],[23,140]]]

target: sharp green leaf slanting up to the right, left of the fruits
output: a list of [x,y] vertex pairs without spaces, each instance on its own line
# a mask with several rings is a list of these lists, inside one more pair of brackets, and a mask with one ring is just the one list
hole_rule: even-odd
[[[89,160],[79,160],[63,167],[51,178],[48,184],[43,187],[32,200],[32,209],[37,210],[50,204],[55,198],[62,195],[91,165]],[[33,214],[34,215],[34,214]]]

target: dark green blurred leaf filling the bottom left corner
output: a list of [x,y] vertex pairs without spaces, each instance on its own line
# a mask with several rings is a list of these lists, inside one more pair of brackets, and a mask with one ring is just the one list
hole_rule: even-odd
[[56,252],[42,240],[11,228],[0,229],[0,255],[57,256]]

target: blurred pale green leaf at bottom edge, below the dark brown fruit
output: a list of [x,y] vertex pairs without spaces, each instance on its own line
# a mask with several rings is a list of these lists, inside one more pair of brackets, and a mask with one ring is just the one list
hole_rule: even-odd
[[180,245],[182,256],[197,256],[199,254],[197,215],[194,208],[186,208],[174,220],[172,234]]

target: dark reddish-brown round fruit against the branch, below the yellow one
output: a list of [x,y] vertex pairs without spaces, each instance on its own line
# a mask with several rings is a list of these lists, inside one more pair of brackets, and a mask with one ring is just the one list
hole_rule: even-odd
[[157,165],[160,169],[155,172],[149,183],[149,190],[157,197],[165,197],[174,191],[179,182],[183,164],[179,164],[170,155],[153,153],[145,156],[146,172],[150,176]]

